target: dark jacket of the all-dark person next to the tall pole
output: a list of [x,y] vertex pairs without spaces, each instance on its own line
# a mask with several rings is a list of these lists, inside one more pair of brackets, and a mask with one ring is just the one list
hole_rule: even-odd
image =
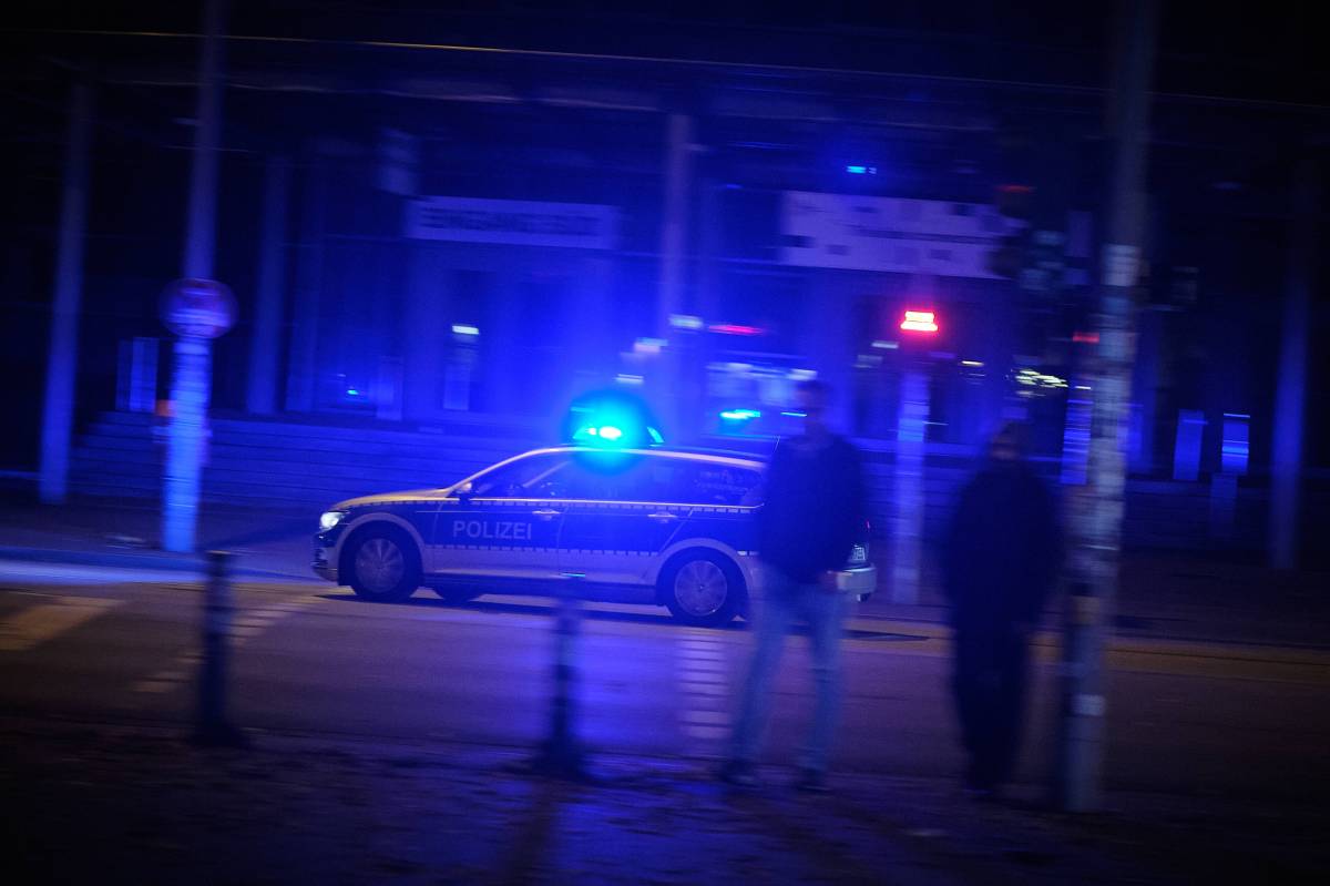
[[1003,633],[1039,621],[1063,555],[1053,498],[1021,460],[990,460],[966,484],[943,572],[955,628]]

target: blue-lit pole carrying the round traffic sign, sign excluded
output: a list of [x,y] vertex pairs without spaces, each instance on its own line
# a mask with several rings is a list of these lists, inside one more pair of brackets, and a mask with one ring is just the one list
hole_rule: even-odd
[[[222,20],[225,0],[206,0],[203,53],[198,72],[198,112],[194,157],[189,181],[189,216],[185,229],[184,274],[186,279],[213,277],[217,246],[217,162],[222,116]],[[198,521],[200,471],[205,446],[207,399],[211,390],[211,343],[201,335],[176,339],[176,372],[172,379],[172,420],[162,488],[162,547],[193,551]]]

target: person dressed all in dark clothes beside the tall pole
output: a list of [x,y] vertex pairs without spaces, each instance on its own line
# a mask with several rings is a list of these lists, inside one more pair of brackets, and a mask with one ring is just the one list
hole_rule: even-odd
[[1061,561],[1053,498],[1023,450],[1019,426],[994,436],[987,463],[960,494],[943,564],[966,789],[980,798],[1015,768],[1029,635]]

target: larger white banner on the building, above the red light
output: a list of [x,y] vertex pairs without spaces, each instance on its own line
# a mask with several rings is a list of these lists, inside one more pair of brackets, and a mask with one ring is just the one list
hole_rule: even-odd
[[1021,225],[986,204],[787,190],[781,263],[999,279],[988,254]]

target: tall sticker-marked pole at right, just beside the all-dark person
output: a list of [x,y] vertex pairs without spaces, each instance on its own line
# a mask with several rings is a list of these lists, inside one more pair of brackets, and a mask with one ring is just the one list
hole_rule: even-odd
[[1071,500],[1071,591],[1063,647],[1063,717],[1056,800],[1069,812],[1103,802],[1105,744],[1104,649],[1117,597],[1123,535],[1125,440],[1136,287],[1145,241],[1145,170],[1149,85],[1158,23],[1156,0],[1123,0],[1116,71],[1109,96],[1113,160],[1105,206],[1099,346],[1089,359],[1091,443],[1088,483]]

